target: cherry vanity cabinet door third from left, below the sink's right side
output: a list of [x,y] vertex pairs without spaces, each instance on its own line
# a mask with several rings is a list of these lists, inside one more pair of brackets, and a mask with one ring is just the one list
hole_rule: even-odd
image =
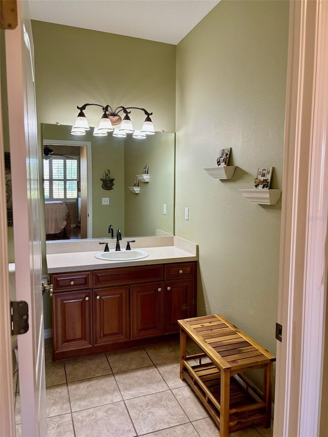
[[162,286],[161,282],[131,285],[131,339],[162,334]]

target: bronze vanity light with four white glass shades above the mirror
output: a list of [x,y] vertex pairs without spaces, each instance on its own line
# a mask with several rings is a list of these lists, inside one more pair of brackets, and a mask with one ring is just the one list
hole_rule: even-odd
[[[155,129],[153,122],[150,118],[153,115],[152,112],[148,112],[144,108],[118,106],[116,109],[109,105],[102,106],[98,103],[85,103],[83,106],[78,106],[77,109],[79,113],[76,117],[74,126],[72,127],[72,135],[85,135],[86,131],[90,130],[87,117],[84,113],[88,106],[99,106],[103,110],[103,116],[100,118],[99,126],[94,128],[93,135],[95,136],[105,136],[108,132],[113,132],[113,136],[116,137],[126,137],[127,134],[132,133],[134,138],[146,138],[146,135],[154,135]],[[144,111],[146,119],[142,128],[135,131],[129,114],[131,114],[131,109],[138,109]],[[120,112],[124,112],[124,118],[119,115]],[[118,127],[118,124],[120,126]],[[115,129],[114,129],[115,127]]]

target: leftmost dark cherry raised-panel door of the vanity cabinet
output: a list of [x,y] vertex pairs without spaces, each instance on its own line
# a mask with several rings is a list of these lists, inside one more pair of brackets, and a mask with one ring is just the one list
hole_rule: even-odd
[[52,299],[54,351],[91,347],[91,290],[54,293]]

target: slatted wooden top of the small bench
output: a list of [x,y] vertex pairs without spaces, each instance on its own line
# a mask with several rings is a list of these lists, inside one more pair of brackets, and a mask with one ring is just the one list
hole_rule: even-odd
[[275,356],[219,314],[178,321],[188,336],[221,370],[275,361]]

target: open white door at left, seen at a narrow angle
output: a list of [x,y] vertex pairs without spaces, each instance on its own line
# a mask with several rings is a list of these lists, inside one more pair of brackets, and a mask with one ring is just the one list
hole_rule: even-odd
[[5,31],[14,220],[16,300],[29,305],[29,331],[18,336],[19,392],[24,437],[44,437],[46,390],[39,173],[31,22],[17,2],[18,26]]

